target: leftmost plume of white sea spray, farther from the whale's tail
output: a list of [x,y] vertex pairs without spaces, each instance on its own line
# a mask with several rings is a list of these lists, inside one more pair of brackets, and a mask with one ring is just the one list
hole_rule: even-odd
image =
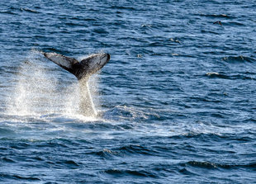
[[54,95],[55,78],[31,50],[26,61],[17,68],[16,84],[8,100],[7,112],[20,116],[52,113],[57,100]]

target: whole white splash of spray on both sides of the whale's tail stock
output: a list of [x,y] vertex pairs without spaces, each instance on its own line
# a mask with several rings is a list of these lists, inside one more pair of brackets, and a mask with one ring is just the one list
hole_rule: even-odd
[[[39,51],[31,50],[13,78],[12,94],[7,100],[7,114],[18,116],[79,115],[79,85],[72,75],[45,61]],[[89,80],[91,95],[97,93],[98,77]],[[98,106],[96,103],[94,106]]]

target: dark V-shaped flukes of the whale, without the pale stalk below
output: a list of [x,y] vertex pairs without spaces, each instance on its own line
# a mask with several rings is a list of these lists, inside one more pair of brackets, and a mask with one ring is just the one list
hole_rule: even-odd
[[92,54],[88,58],[78,61],[77,59],[69,58],[62,54],[57,53],[45,53],[45,58],[50,59],[55,64],[58,64],[61,68],[73,73],[78,78],[87,78],[93,73],[97,73],[110,59],[110,54]]

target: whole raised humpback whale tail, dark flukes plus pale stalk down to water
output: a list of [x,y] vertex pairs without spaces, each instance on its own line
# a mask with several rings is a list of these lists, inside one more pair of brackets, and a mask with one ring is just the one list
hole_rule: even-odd
[[46,59],[58,64],[61,68],[73,73],[78,78],[80,89],[79,111],[83,116],[97,116],[97,111],[92,102],[92,97],[88,87],[88,79],[93,73],[97,73],[110,60],[110,54],[92,54],[86,59],[78,61],[62,54],[45,53]]

